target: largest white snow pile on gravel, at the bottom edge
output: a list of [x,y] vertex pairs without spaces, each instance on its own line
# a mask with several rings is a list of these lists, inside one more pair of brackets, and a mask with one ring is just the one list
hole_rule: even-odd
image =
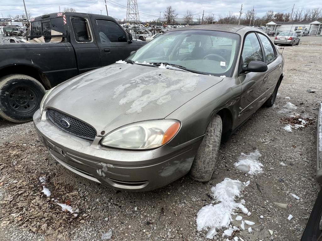
[[[204,206],[197,213],[196,222],[198,231],[203,229],[208,230],[210,227],[206,238],[212,239],[213,236],[217,234],[216,228],[229,228],[230,231],[224,231],[224,234],[226,235],[228,235],[231,230],[236,230],[236,227],[230,226],[233,211],[239,208],[243,213],[247,214],[248,210],[243,205],[245,203],[244,200],[237,203],[235,202],[235,198],[241,196],[241,192],[249,183],[249,181],[247,183],[242,183],[239,180],[225,178],[221,183],[217,183],[215,187],[212,187],[211,191],[213,192],[215,201]],[[218,203],[214,204],[215,202]]]

